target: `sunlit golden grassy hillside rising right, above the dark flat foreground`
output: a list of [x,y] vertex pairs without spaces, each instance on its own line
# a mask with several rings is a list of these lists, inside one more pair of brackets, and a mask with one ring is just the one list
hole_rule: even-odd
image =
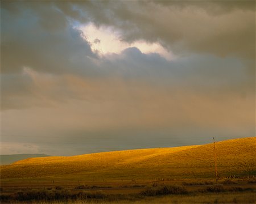
[[[216,142],[220,176],[256,173],[256,138]],[[1,166],[1,178],[83,177],[105,179],[214,177],[213,144],[51,156]]]

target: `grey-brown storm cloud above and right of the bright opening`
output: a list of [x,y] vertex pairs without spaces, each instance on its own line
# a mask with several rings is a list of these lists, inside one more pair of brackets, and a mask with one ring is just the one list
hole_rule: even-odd
[[120,29],[126,41],[159,41],[179,54],[187,50],[242,58],[255,55],[254,1],[94,1],[74,5],[96,25]]

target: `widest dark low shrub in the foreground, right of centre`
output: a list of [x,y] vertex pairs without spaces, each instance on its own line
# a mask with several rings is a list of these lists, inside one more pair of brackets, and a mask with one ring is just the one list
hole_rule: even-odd
[[141,194],[143,196],[160,196],[168,194],[185,194],[188,193],[184,187],[175,186],[175,185],[165,185],[158,188],[148,188],[143,190]]

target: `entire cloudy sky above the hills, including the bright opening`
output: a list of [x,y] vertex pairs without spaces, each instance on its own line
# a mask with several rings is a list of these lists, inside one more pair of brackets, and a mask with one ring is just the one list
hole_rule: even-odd
[[1,154],[255,137],[255,1],[1,1]]

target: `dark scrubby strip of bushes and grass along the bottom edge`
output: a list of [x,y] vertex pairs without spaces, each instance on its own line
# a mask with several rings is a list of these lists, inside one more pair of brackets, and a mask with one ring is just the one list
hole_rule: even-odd
[[183,182],[183,185],[159,182],[139,188],[120,187],[119,190],[128,189],[125,194],[117,193],[117,188],[98,190],[88,189],[89,186],[69,190],[62,186],[26,188],[13,193],[7,193],[6,188],[1,193],[1,203],[255,203],[255,182],[225,180],[218,184],[207,181]]

